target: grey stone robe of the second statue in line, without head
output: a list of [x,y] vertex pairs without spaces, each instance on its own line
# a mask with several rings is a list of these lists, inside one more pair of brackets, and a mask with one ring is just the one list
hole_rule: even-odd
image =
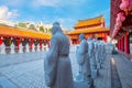
[[90,75],[90,63],[88,58],[88,43],[86,40],[80,42],[76,51],[76,57],[79,64],[79,73],[88,77],[88,75]]

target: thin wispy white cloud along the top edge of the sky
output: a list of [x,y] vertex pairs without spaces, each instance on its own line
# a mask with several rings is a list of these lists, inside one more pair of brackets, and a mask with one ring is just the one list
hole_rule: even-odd
[[57,7],[63,7],[63,6],[79,6],[81,3],[84,3],[85,1],[87,0],[70,0],[70,1],[67,1],[67,0],[33,0],[32,1],[32,4],[34,7],[54,7],[54,8],[57,8]]

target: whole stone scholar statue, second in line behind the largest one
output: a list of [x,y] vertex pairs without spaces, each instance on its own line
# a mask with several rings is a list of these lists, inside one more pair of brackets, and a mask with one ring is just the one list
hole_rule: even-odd
[[[79,65],[79,75],[76,77],[76,81],[87,82],[88,88],[92,88],[92,78],[90,70],[90,62],[88,58],[88,43],[85,40],[85,35],[79,35],[80,45],[77,47],[76,57]],[[86,84],[85,84],[86,85]]]

